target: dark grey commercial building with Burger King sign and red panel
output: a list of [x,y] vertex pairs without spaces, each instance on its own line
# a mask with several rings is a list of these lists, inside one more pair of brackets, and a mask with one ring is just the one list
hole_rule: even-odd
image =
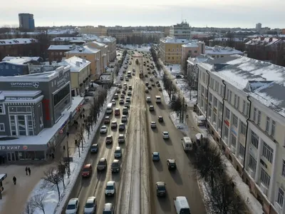
[[83,103],[71,98],[71,67],[1,76],[0,85],[0,156],[9,162],[46,160]]

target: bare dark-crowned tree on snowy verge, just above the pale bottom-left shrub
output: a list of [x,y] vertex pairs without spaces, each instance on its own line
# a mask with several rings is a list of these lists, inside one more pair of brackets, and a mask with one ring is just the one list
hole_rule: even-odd
[[[48,185],[51,188],[56,186],[58,190],[58,199],[61,198],[61,191],[59,190],[59,185],[61,182],[63,182],[63,176],[61,173],[59,173],[58,168],[51,167],[46,172],[44,172],[44,177],[43,177],[43,185]],[[65,188],[65,185],[63,183],[63,187]]]

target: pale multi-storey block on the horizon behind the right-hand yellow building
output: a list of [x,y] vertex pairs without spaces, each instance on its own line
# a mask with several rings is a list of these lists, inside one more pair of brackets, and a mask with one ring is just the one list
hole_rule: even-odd
[[170,37],[176,39],[191,39],[191,27],[186,21],[170,26]]

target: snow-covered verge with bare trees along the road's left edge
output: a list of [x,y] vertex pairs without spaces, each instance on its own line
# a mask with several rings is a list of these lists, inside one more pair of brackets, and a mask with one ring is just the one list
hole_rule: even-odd
[[[56,213],[56,214],[58,213],[59,214],[62,212],[63,207],[66,203],[66,200],[68,200],[69,195],[71,194],[71,190],[73,189],[73,186],[76,183],[76,179],[79,173],[81,172],[83,163],[90,150],[90,146],[95,136],[95,133],[97,132],[100,126],[100,123],[103,120],[103,117],[105,114],[105,108],[107,104],[110,103],[110,101],[112,100],[115,91],[116,91],[115,87],[110,89],[108,93],[107,101],[105,102],[103,106],[103,110],[100,113],[97,123],[93,126],[93,131],[91,131],[89,139],[88,139],[88,133],[85,131],[84,139],[86,140],[86,143],[83,144],[83,151],[80,148],[81,157],[79,157],[78,150],[76,150],[76,152],[73,154],[73,162],[70,163],[71,176],[70,178],[68,178],[68,175],[64,175],[64,183],[66,185],[66,188],[63,188],[63,183],[59,185],[60,193],[61,193],[60,200],[58,200],[58,191],[56,190],[56,187],[51,189],[48,186],[45,186],[43,179],[38,182],[33,192],[31,193],[29,197],[30,199],[36,195],[44,195],[43,201],[45,204],[46,213]],[[37,208],[33,214],[42,214],[42,213],[43,212]]]

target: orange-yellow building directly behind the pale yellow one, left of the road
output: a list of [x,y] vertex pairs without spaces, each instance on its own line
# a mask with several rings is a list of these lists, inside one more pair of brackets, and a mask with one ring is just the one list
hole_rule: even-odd
[[99,49],[93,49],[88,46],[83,46],[66,52],[66,58],[71,58],[72,56],[78,56],[79,58],[86,58],[86,60],[90,61],[91,79],[96,80],[100,77],[101,65],[100,65]]

